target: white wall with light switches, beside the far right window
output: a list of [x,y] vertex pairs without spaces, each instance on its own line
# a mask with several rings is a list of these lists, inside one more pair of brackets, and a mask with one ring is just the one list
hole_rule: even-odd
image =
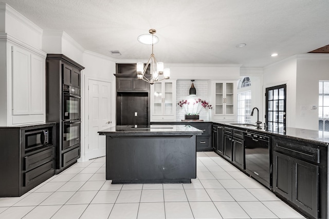
[[[303,54],[297,56],[296,126],[303,129],[319,128],[319,81],[329,81],[329,55]],[[312,105],[317,109],[312,110]],[[306,109],[302,110],[302,106]]]

